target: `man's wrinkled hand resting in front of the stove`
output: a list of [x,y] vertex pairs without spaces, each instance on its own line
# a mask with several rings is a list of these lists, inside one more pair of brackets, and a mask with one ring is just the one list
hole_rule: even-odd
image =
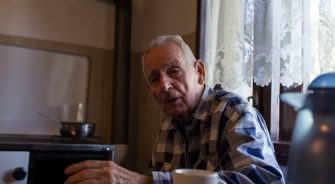
[[70,165],[65,174],[71,175],[65,184],[147,184],[152,177],[129,171],[112,161],[83,161]]

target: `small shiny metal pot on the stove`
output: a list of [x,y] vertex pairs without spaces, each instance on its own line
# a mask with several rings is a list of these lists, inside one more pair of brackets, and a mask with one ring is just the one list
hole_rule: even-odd
[[95,131],[94,123],[60,122],[60,134],[64,137],[92,137]]

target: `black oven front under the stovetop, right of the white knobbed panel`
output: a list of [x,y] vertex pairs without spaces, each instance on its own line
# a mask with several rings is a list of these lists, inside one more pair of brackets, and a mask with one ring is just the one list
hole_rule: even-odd
[[64,169],[84,160],[111,160],[107,151],[31,151],[29,161],[29,184],[60,184],[67,175]]

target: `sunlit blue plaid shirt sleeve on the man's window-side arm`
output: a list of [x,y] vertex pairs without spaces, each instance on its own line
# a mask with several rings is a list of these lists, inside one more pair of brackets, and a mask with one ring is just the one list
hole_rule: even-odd
[[228,121],[219,145],[219,176],[227,184],[285,183],[260,114],[240,104],[222,116]]

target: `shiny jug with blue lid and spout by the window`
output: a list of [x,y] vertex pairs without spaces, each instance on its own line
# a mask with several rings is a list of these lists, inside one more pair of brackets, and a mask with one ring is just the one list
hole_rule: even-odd
[[280,99],[298,110],[287,183],[335,183],[335,72],[318,76],[306,93]]

